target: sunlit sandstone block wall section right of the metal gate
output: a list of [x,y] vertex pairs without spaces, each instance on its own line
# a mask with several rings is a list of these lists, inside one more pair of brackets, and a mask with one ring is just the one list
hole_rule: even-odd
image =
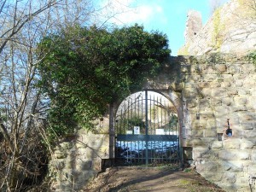
[[[251,191],[250,183],[255,189],[255,67],[234,55],[173,62],[180,63],[183,79],[177,81],[183,84],[183,147],[192,148],[196,171],[226,191]],[[232,137],[225,134],[227,119]]]

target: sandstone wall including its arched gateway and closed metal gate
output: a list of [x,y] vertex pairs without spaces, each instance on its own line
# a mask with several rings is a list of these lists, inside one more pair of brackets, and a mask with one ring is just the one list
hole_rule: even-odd
[[81,129],[60,143],[51,163],[60,189],[75,189],[73,178],[79,189],[113,158],[126,165],[180,160],[225,191],[256,189],[255,79],[243,57],[170,58],[147,89],[110,104],[93,132]]

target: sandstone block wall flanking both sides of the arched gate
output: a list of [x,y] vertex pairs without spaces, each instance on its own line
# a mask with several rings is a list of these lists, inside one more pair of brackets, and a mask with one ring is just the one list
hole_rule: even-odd
[[[172,57],[150,89],[177,109],[184,152],[192,150],[196,172],[226,191],[256,190],[256,73],[236,55]],[[79,130],[55,148],[51,177],[55,191],[80,189],[112,159],[113,116],[96,120],[96,131]],[[232,137],[225,134],[230,119]],[[184,153],[186,154],[186,153]],[[184,155],[184,159],[186,156]],[[250,185],[251,184],[251,185]]]

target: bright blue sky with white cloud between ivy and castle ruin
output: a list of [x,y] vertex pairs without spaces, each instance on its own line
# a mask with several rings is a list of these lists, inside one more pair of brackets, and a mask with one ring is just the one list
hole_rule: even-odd
[[169,40],[171,55],[184,44],[184,30],[190,9],[201,12],[203,25],[207,23],[212,3],[222,4],[228,0],[99,0],[105,14],[114,15],[108,22],[117,26],[143,25],[147,32],[159,31]]

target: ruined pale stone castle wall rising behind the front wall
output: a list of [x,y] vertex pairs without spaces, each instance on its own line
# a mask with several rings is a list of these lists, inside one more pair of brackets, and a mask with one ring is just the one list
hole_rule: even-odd
[[[244,54],[256,49],[255,10],[253,0],[230,0],[216,9],[203,27],[201,22],[190,21],[198,20],[198,13],[189,12],[185,44],[177,55],[205,55],[216,52]],[[194,28],[201,30],[189,33]]]

